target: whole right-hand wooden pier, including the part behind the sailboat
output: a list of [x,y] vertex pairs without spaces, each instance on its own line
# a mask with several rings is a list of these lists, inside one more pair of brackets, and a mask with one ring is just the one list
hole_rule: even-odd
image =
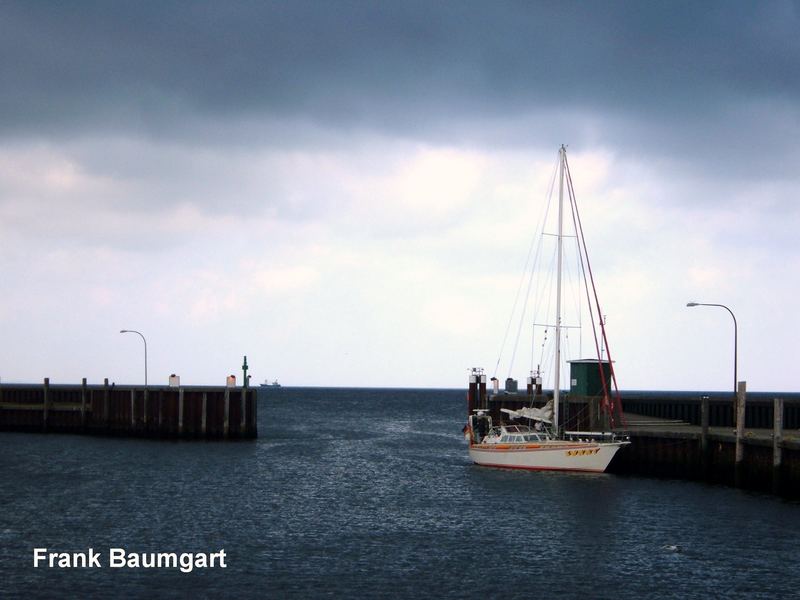
[[[493,423],[502,409],[541,406],[552,392],[488,395],[485,383],[470,384],[468,410],[485,406]],[[616,454],[609,471],[724,483],[800,497],[800,394],[622,392],[624,409],[613,426],[600,398],[561,397],[567,429],[614,431],[631,445]],[[736,418],[734,417],[736,415]]]

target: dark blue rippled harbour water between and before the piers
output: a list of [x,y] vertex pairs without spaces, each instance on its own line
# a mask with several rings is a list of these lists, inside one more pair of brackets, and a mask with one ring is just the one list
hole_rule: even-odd
[[[800,597],[800,503],[476,467],[464,397],[268,390],[251,442],[0,433],[0,596]],[[34,569],[35,547],[228,567]]]

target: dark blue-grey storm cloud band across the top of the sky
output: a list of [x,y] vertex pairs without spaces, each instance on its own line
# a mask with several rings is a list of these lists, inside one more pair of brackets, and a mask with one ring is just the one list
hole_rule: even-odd
[[245,118],[415,132],[556,106],[697,125],[798,99],[797,7],[4,3],[0,131],[159,135]]

